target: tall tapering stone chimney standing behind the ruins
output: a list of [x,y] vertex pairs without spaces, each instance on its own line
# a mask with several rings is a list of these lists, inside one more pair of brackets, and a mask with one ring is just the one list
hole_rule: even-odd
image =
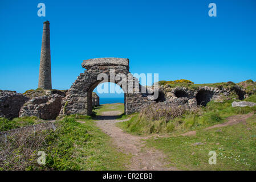
[[50,22],[43,22],[38,88],[51,89]]

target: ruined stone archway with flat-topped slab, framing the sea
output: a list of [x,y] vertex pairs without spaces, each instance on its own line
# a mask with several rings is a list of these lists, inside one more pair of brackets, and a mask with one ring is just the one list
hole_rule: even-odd
[[[116,75],[119,73],[125,75],[127,80],[131,75],[129,74],[129,60],[123,58],[109,57],[84,60],[82,67],[86,68],[86,71],[80,73],[80,76],[78,76],[68,90],[67,96],[62,101],[60,115],[92,114],[92,91],[97,85],[104,82],[103,79],[97,80],[98,75],[101,73],[105,73],[108,77],[108,80],[105,82],[114,82],[117,85],[119,85],[118,83],[120,80],[115,79]],[[140,111],[141,107],[150,104],[153,101],[148,92],[141,93],[141,85],[139,85],[139,90],[136,92],[128,92],[128,82],[132,82],[133,91],[136,90],[135,83],[137,82],[137,84],[139,84],[137,78],[132,77],[132,79],[125,82],[126,88],[122,88],[122,85],[119,85],[124,90],[125,114]]]

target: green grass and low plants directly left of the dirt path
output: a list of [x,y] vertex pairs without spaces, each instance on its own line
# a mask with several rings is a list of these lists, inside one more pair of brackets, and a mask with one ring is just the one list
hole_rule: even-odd
[[123,170],[127,156],[112,146],[110,137],[90,119],[64,118],[52,134],[47,168],[60,170]]

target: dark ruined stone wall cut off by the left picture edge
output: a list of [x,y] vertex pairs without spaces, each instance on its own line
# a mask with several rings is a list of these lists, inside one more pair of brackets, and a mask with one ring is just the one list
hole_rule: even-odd
[[21,93],[9,90],[0,90],[0,117],[13,119],[19,116],[19,110],[29,100]]

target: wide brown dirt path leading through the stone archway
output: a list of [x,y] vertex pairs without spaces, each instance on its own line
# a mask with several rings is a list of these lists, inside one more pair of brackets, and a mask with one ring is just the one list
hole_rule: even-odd
[[144,148],[143,137],[124,133],[123,130],[115,126],[116,122],[122,122],[116,120],[116,115],[121,114],[120,112],[105,111],[101,114],[96,117],[96,119],[99,119],[99,121],[96,121],[96,125],[112,138],[113,144],[119,151],[132,155],[130,163],[127,164],[128,170],[177,170],[174,167],[166,167],[168,163],[162,152],[153,148]]

